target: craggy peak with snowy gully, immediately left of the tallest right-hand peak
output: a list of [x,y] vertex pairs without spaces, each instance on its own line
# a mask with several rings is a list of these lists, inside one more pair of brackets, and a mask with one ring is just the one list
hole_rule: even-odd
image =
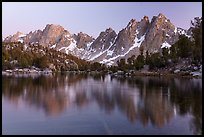
[[[105,52],[106,54],[103,54],[103,58],[100,57],[100,60],[96,58],[94,61],[111,65],[121,58],[127,59],[131,55],[137,54],[138,47],[144,39],[143,35],[146,33],[144,29],[147,27],[147,17],[144,17],[141,22],[131,19],[127,26],[118,33],[115,42]],[[138,28],[141,32],[138,31]],[[140,33],[139,37],[138,33]]]

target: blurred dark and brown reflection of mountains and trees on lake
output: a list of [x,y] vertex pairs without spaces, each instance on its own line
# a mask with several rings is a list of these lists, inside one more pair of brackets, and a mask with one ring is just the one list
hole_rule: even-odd
[[2,96],[42,109],[48,116],[96,103],[111,115],[118,109],[130,122],[162,128],[176,115],[192,115],[190,129],[202,134],[202,80],[114,78],[101,75],[3,76]]

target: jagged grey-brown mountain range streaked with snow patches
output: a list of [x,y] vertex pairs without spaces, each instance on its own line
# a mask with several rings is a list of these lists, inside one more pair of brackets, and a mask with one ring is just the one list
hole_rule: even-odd
[[169,48],[181,34],[190,37],[191,29],[174,26],[160,13],[153,16],[151,21],[147,16],[140,21],[131,19],[118,34],[112,28],[107,28],[97,38],[83,32],[72,34],[60,25],[48,24],[42,31],[36,30],[26,35],[17,32],[6,37],[4,42],[38,43],[87,61],[115,65],[117,60],[138,56],[140,51],[154,53],[163,47]]

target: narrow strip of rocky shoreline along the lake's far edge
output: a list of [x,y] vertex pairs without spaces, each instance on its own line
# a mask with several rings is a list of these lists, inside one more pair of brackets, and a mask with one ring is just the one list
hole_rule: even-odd
[[73,74],[110,74],[111,76],[123,76],[123,77],[135,77],[135,76],[167,76],[167,77],[189,77],[189,78],[201,78],[202,70],[199,71],[52,71],[50,69],[39,69],[39,68],[24,68],[24,69],[13,69],[4,70],[2,75],[52,75],[53,73],[73,73]]

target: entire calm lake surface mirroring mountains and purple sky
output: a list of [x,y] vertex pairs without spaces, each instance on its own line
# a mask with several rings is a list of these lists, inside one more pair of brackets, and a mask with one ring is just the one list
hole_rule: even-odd
[[2,134],[202,134],[202,79],[3,76]]

